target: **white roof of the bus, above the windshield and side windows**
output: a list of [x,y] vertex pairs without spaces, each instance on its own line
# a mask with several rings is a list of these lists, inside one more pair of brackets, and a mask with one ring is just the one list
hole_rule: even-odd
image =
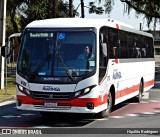
[[76,27],[96,27],[108,26],[120,30],[126,30],[152,37],[152,34],[134,29],[131,25],[115,21],[112,19],[86,19],[86,18],[54,18],[36,20],[26,26],[26,28],[76,28]]

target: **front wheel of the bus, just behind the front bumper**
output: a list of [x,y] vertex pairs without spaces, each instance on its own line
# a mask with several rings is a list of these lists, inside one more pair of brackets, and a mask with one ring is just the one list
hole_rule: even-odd
[[110,112],[111,112],[111,109],[112,109],[112,94],[111,94],[111,92],[109,92],[109,94],[108,94],[108,102],[107,102],[107,109],[103,110],[102,112],[100,112],[99,113],[99,117],[101,117],[101,118],[108,117]]

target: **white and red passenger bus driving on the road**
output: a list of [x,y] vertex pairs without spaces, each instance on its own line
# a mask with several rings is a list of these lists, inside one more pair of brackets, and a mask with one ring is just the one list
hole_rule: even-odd
[[[79,59],[84,47],[92,58]],[[154,85],[152,35],[106,19],[47,19],[28,24],[17,62],[17,109],[94,113]]]

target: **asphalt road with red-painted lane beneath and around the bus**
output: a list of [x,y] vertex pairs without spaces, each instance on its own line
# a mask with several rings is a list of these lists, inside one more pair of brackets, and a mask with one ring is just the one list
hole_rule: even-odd
[[[15,103],[13,103],[0,106],[0,128],[43,129],[40,132],[54,133],[54,136],[57,137],[71,137],[75,134],[76,136],[87,135],[87,137],[140,136],[139,134],[131,135],[131,132],[139,132],[138,130],[143,130],[143,128],[146,128],[144,130],[158,130],[160,133],[160,129],[156,129],[160,128],[160,84],[158,80],[159,78],[156,78],[157,82],[154,88],[144,94],[141,103],[136,103],[133,99],[121,103],[114,107],[108,118],[100,119],[97,116],[82,114],[57,114],[54,117],[43,118],[38,112],[17,111]],[[135,131],[137,128],[138,130]],[[121,132],[124,134],[128,132],[128,134],[116,134]],[[114,133],[115,135],[106,133]],[[142,134],[141,136],[150,135]],[[153,136],[157,136],[157,134]]]

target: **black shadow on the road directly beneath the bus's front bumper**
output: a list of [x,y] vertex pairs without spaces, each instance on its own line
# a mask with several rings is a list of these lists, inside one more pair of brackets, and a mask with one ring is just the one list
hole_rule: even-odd
[[34,123],[47,127],[82,127],[93,121],[95,119],[91,114],[51,113],[47,117],[40,116]]

